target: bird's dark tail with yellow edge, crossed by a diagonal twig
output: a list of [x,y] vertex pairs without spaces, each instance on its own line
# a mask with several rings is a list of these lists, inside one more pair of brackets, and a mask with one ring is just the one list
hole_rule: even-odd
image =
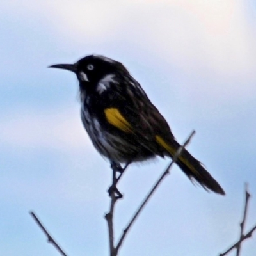
[[[159,143],[159,145],[168,151],[171,157],[175,155],[178,148],[180,147],[179,143],[177,143],[175,140],[172,140],[170,143],[166,143],[166,141],[164,141],[161,137],[157,136],[156,141]],[[205,189],[209,189],[215,193],[225,195],[225,191],[223,188],[221,188],[220,184],[218,184],[218,182],[211,176],[211,174],[205,170],[200,161],[191,156],[188,150],[184,149],[176,163],[189,177],[189,179],[196,180]]]

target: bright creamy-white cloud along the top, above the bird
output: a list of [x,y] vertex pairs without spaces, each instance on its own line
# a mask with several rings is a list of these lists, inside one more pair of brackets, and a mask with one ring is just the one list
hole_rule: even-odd
[[[128,42],[186,70],[254,77],[255,33],[246,10],[225,1],[45,1],[40,12],[74,44]],[[115,43],[116,42],[116,43]]]

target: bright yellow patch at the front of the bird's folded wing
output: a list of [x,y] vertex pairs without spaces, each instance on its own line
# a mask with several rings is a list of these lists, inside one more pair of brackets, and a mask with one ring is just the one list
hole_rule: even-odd
[[117,108],[106,108],[104,113],[109,124],[124,132],[132,132],[131,124],[129,124],[129,122],[124,118],[124,116],[122,116]]

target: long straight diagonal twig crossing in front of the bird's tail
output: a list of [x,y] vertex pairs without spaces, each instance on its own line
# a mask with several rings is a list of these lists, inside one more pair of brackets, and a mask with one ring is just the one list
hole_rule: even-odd
[[175,155],[173,156],[172,162],[167,166],[166,170],[164,170],[163,174],[161,175],[161,177],[157,180],[156,184],[154,185],[154,187],[152,189],[150,189],[150,192],[148,193],[148,195],[146,196],[146,198],[143,200],[142,204],[140,205],[140,207],[138,208],[138,210],[135,212],[134,216],[132,217],[131,221],[129,222],[129,224],[127,225],[127,227],[124,229],[122,236],[120,237],[120,240],[118,241],[118,244],[116,246],[116,255],[118,253],[118,250],[120,248],[120,246],[122,245],[125,236],[127,235],[127,232],[129,231],[129,229],[131,228],[132,224],[134,223],[134,221],[136,220],[136,218],[138,217],[138,215],[140,214],[140,212],[142,211],[142,209],[145,207],[145,205],[147,204],[148,200],[150,199],[150,197],[153,195],[153,193],[156,191],[156,189],[158,188],[159,184],[161,184],[161,182],[163,181],[164,177],[166,177],[166,175],[168,175],[170,173],[170,168],[172,166],[173,163],[175,163],[177,161],[177,159],[179,158],[180,154],[182,154],[182,151],[184,150],[184,148],[186,147],[186,145],[188,145],[189,141],[191,140],[191,138],[193,137],[193,135],[195,134],[195,131],[191,132],[188,140],[185,141],[184,145],[180,146],[177,150],[177,152],[175,153]]

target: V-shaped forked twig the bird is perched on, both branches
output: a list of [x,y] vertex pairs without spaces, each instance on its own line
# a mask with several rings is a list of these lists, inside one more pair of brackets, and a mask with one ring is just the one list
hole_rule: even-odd
[[138,209],[135,212],[134,216],[132,217],[131,221],[129,221],[129,223],[128,223],[127,227],[124,229],[123,234],[120,237],[116,247],[114,245],[114,235],[113,235],[114,234],[114,232],[113,232],[113,212],[114,212],[114,207],[115,207],[115,203],[116,203],[117,199],[116,199],[116,196],[114,195],[114,193],[111,193],[110,210],[109,210],[109,213],[106,214],[106,216],[105,216],[105,218],[107,220],[107,223],[108,223],[109,249],[110,249],[110,255],[111,256],[116,256],[118,254],[118,250],[120,249],[120,246],[122,245],[125,237],[127,236],[127,232],[131,228],[132,224],[134,223],[136,218],[138,218],[140,212],[143,210],[143,208],[147,204],[147,202],[150,199],[150,197],[153,195],[153,193],[156,191],[158,186],[161,184],[161,182],[163,181],[164,177],[166,177],[166,175],[168,175],[170,173],[170,168],[172,167],[173,163],[175,163],[177,161],[177,159],[179,158],[180,154],[182,154],[184,148],[186,147],[186,145],[188,145],[189,141],[191,140],[191,138],[193,137],[194,134],[195,134],[195,131],[191,132],[188,140],[185,141],[184,145],[182,145],[182,146],[180,146],[178,148],[177,152],[173,156],[173,159],[172,159],[171,163],[168,164],[167,168],[164,170],[164,172],[161,175],[161,177],[159,177],[159,179],[157,180],[156,184],[153,186],[152,189],[150,189],[150,192],[148,193],[146,198],[141,203],[140,207],[138,207]]

